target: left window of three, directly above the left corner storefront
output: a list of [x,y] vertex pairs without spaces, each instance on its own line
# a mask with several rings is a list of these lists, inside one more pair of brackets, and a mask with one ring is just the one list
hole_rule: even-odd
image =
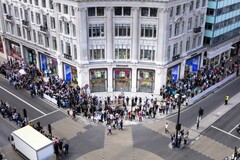
[[105,49],[104,46],[90,46],[90,60],[104,60]]

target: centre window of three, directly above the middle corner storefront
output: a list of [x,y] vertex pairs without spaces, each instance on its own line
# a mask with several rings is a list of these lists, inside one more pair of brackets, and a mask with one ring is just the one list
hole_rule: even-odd
[[115,59],[126,60],[130,59],[130,46],[127,45],[116,45],[115,46]]

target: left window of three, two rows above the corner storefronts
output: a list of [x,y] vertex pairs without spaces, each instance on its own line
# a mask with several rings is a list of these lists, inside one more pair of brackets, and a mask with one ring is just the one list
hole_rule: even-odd
[[104,24],[89,24],[89,37],[104,37]]

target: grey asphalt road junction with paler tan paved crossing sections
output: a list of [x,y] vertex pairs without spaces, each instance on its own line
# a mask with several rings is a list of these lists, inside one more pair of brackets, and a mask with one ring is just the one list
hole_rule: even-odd
[[[235,79],[232,83],[182,111],[180,118],[182,125],[191,128],[196,123],[199,107],[204,109],[204,117],[207,116],[224,102],[227,93],[231,98],[240,91],[239,83],[240,79]],[[207,128],[195,143],[180,150],[175,150],[169,147],[170,135],[164,133],[164,127],[165,123],[169,122],[170,130],[174,132],[176,115],[149,124],[124,127],[123,131],[113,130],[113,135],[107,136],[104,125],[75,122],[67,117],[61,109],[40,98],[31,98],[25,90],[15,90],[2,78],[0,78],[0,95],[0,99],[7,101],[11,106],[15,106],[20,113],[22,113],[23,108],[26,108],[29,120],[32,120],[34,124],[37,121],[40,121],[42,126],[52,124],[54,135],[64,137],[70,143],[70,155],[65,158],[69,160],[75,160],[79,157],[82,157],[82,159],[99,157],[103,160],[141,160],[146,158],[153,160],[208,160],[218,159],[216,158],[218,155],[209,155],[201,150],[208,142],[211,142],[212,149],[233,150],[235,146],[240,146],[239,140],[236,138],[239,135],[234,132],[234,127],[239,123],[239,116],[237,116],[240,111],[239,106],[236,106],[215,122],[213,127]],[[7,137],[14,128],[2,120],[1,128],[4,128],[4,130],[1,129],[0,134],[4,136],[0,138],[0,146],[10,150],[4,137]],[[218,153],[215,150],[211,152]],[[223,155],[221,155],[221,158],[223,158]]]

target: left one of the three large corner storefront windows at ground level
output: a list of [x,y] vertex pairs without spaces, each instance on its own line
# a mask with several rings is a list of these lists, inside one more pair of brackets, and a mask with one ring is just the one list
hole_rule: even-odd
[[107,91],[107,69],[92,69],[89,76],[91,92]]

